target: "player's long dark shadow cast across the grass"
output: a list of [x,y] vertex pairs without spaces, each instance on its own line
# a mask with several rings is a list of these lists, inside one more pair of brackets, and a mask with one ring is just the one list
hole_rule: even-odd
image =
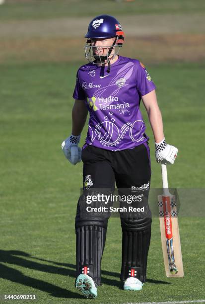
[[[40,264],[36,261],[27,260],[35,259],[41,262],[52,263],[55,265],[47,265]],[[49,293],[53,297],[58,298],[78,298],[84,299],[83,296],[79,294],[75,294],[61,287],[55,286],[53,284],[47,283],[42,280],[34,279],[28,276],[25,276],[20,271],[10,268],[7,265],[3,265],[1,263],[17,265],[37,271],[43,271],[47,273],[60,274],[65,276],[70,276],[75,278],[75,265],[69,263],[60,263],[52,260],[46,260],[42,258],[34,257],[26,252],[17,251],[17,250],[0,250],[0,278],[9,280],[11,282],[20,283],[22,285],[35,288],[37,290],[41,290]],[[68,269],[71,268],[71,269]],[[123,285],[120,282],[120,274],[116,272],[102,270],[102,284],[106,284],[108,286],[117,286],[119,289],[123,289]],[[111,279],[104,276],[112,276],[117,279]],[[157,281],[152,279],[147,279],[147,282],[152,284],[170,284],[169,282]]]

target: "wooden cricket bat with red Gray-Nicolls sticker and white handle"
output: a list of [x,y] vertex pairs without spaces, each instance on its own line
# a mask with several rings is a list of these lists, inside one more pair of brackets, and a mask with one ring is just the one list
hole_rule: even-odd
[[166,276],[183,278],[182,251],[175,196],[169,193],[167,167],[161,164],[163,194],[158,195],[159,222]]

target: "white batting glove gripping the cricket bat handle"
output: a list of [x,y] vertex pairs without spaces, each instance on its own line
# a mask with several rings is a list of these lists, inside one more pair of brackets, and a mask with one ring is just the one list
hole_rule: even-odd
[[177,157],[178,149],[166,144],[165,139],[155,143],[155,157],[158,163],[173,164]]

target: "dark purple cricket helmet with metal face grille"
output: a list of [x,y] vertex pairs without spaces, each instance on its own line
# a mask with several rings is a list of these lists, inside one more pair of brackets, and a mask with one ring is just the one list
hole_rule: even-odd
[[[90,22],[85,38],[88,38],[84,47],[86,59],[95,65],[105,64],[109,63],[116,55],[118,55],[119,50],[123,45],[124,33],[117,19],[109,15],[100,15]],[[91,45],[91,39],[103,38],[115,38],[115,40],[112,45]],[[98,51],[97,55],[95,54],[96,50]],[[103,54],[99,55],[99,51],[101,50],[103,50]]]

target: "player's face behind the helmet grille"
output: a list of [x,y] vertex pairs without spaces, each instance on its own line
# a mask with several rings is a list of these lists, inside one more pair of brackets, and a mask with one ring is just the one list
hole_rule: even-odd
[[[114,40],[115,38],[108,38],[108,39],[91,38],[91,46],[93,46],[92,48],[93,55],[106,56],[109,51],[109,47],[112,46]],[[114,53],[114,49],[115,48],[113,48],[110,55]]]

